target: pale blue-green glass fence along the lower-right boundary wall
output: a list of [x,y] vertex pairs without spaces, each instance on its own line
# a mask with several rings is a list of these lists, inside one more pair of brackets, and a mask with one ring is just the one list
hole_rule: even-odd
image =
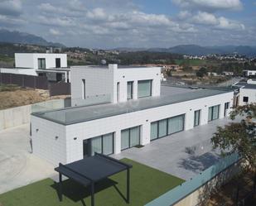
[[208,169],[204,170],[199,175],[196,175],[191,180],[187,180],[185,183],[176,186],[176,188],[171,189],[166,194],[162,194],[162,196],[152,200],[152,202],[146,204],[145,206],[170,206],[177,204],[189,194],[192,194],[197,189],[200,189],[200,187],[214,179],[217,175],[220,175],[220,173],[227,170],[229,166],[234,165],[234,163],[238,162],[239,159],[240,158],[237,154],[226,156],[217,164],[210,166]]

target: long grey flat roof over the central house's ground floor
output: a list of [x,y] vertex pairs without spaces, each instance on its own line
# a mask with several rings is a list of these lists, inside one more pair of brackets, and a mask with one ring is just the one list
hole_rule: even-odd
[[32,113],[32,115],[63,125],[70,125],[230,92],[233,91],[220,89],[190,89],[187,90],[186,93],[175,93],[172,95],[167,93],[167,95],[159,97],[139,98],[138,100],[130,100],[125,103],[104,103],[93,106],[63,108],[48,112]]

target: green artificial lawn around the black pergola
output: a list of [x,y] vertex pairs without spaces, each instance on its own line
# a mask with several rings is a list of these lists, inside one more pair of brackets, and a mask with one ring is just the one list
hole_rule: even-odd
[[[96,206],[140,206],[156,199],[169,189],[181,184],[181,180],[155,170],[147,165],[142,165],[133,160],[123,159],[132,164],[130,184],[130,204],[124,200],[126,197],[126,172],[113,175],[95,185]],[[5,194],[0,194],[2,206],[89,206],[89,189],[72,180],[63,182],[63,201],[60,203],[57,194],[57,184],[51,179],[41,180],[19,189],[14,189]]]

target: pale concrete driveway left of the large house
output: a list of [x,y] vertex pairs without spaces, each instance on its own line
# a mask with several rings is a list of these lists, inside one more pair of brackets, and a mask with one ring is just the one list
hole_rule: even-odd
[[53,174],[53,165],[31,154],[29,124],[0,131],[0,194]]

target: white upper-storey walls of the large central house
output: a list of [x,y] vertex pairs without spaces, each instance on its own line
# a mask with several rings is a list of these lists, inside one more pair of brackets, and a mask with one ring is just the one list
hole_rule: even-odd
[[[133,99],[138,98],[138,80],[152,79],[152,96],[160,95],[160,67],[118,69],[118,65],[109,65],[109,67],[74,66],[70,70],[72,99],[83,97],[82,79],[85,79],[86,96],[109,94],[113,103],[117,103],[118,82],[120,102],[127,101],[128,81],[133,81]],[[77,101],[72,101],[72,105],[76,103]]]

